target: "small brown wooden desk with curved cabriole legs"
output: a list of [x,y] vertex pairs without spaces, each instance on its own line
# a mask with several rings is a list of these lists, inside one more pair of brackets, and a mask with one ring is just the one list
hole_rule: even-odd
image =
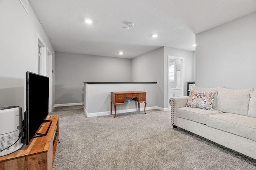
[[112,115],[112,103],[114,104],[115,107],[115,116],[116,118],[116,105],[118,104],[124,104],[124,100],[126,98],[130,98],[134,101],[138,102],[138,107],[140,111],[140,103],[144,102],[145,107],[144,107],[144,112],[146,114],[146,92],[142,91],[130,91],[130,92],[110,92],[111,93],[111,102],[110,102],[110,115]]

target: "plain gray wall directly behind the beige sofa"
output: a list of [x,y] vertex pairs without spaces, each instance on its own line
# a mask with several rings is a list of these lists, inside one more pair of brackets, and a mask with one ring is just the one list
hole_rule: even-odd
[[196,86],[256,87],[256,12],[196,35]]

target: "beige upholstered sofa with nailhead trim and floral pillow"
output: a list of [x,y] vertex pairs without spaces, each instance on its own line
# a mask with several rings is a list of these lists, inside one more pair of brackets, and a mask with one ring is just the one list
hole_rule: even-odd
[[196,97],[190,94],[170,98],[173,127],[256,159],[256,91],[253,88],[232,90],[197,86],[193,90]]

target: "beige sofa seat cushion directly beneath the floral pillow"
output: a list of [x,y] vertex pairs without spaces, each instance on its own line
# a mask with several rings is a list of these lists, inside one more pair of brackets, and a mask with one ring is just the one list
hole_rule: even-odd
[[177,117],[192,120],[198,123],[205,124],[205,118],[207,115],[222,113],[219,110],[213,109],[205,110],[194,107],[180,107],[176,110]]

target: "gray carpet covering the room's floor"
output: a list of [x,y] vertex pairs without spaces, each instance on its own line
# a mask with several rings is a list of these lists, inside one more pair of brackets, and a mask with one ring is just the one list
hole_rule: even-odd
[[256,160],[174,129],[159,110],[85,117],[82,106],[56,107],[54,170],[256,170]]

